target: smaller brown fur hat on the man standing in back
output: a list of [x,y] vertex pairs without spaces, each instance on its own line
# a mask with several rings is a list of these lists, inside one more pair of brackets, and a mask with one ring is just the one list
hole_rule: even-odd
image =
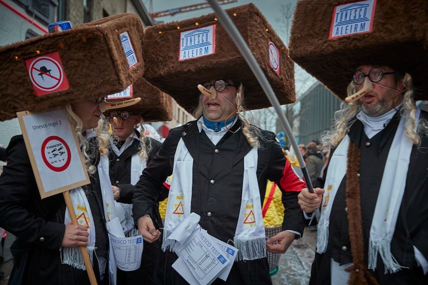
[[[129,90],[132,89],[132,94]],[[128,110],[140,114],[144,122],[165,122],[172,120],[172,98],[154,87],[144,77],[137,79],[127,92],[120,92],[109,95],[107,102],[121,102],[129,98],[140,97],[141,101],[135,105],[125,108],[115,108],[114,110]],[[113,111],[113,110],[112,110]],[[107,114],[109,110],[104,112]]]

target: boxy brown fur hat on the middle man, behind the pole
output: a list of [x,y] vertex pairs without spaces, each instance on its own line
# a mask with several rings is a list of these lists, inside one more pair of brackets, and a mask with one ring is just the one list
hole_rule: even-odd
[[[266,74],[280,103],[294,102],[294,66],[287,57],[287,48],[266,18],[254,4],[233,7],[226,12]],[[212,33],[214,37],[207,32],[211,28],[215,29]],[[271,45],[272,53],[270,41],[276,46]],[[210,48],[214,49],[214,53],[206,53]],[[277,61],[280,62],[278,73],[270,66],[273,54],[278,54],[274,61],[276,67]],[[193,57],[195,55],[198,57]],[[170,94],[191,114],[198,105],[198,84],[219,78],[243,82],[247,109],[271,106],[253,72],[214,13],[147,27],[143,38],[143,58],[147,81]]]

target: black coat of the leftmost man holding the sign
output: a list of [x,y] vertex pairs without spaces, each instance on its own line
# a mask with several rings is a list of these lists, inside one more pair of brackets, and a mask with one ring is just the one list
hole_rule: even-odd
[[[22,136],[11,139],[7,157],[7,166],[4,166],[0,178],[0,226],[17,237],[11,249],[15,259],[14,270],[19,266],[17,261],[28,254],[28,267],[19,273],[24,275],[25,284],[89,284],[86,271],[61,263],[59,250],[65,232],[66,211],[63,195],[40,198]],[[108,258],[98,174],[91,175],[90,180],[92,191],[89,192],[93,194],[89,195],[88,201],[95,221],[97,254]],[[98,284],[101,284],[96,258],[94,273]],[[105,280],[108,281],[108,274]]]

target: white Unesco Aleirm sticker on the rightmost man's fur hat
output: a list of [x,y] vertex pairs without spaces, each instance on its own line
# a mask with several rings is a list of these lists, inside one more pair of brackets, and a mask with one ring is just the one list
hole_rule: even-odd
[[376,0],[365,0],[336,6],[329,39],[371,32]]

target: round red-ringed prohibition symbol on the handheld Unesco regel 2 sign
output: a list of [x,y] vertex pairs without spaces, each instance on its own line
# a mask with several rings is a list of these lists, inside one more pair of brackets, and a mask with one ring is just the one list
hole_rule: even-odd
[[42,158],[46,166],[55,172],[67,169],[71,161],[69,145],[60,137],[50,136],[42,143]]

